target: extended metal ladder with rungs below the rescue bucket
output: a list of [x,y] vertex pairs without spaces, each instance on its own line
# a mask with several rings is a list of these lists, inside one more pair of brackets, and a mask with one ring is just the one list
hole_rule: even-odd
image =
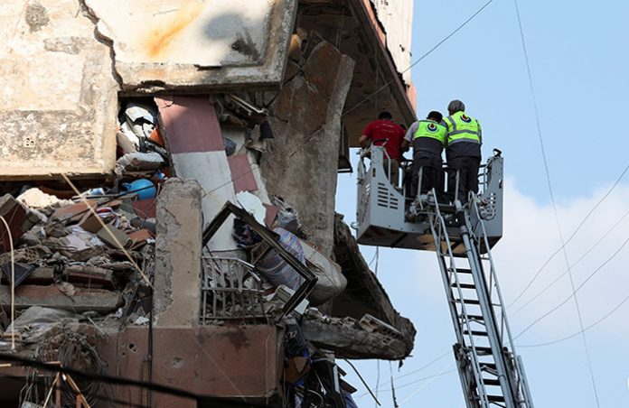
[[[435,191],[430,194],[434,197]],[[465,403],[468,408],[532,408],[477,200],[465,207],[456,201],[455,214],[444,214],[440,207],[422,206],[420,212],[429,221],[437,248],[455,326],[454,351]],[[451,233],[453,224],[456,234]],[[461,246],[465,254],[453,251]]]

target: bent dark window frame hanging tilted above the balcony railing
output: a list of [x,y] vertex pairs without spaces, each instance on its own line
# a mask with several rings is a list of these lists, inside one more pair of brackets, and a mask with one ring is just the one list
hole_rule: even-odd
[[253,216],[250,215],[249,212],[244,209],[240,209],[230,201],[227,201],[225,203],[221,211],[203,230],[203,247],[208,245],[212,236],[216,234],[216,232],[219,230],[219,228],[222,227],[222,225],[225,223],[227,218],[230,217],[231,214],[233,214],[236,218],[240,218],[243,222],[249,225],[249,227],[251,227],[251,229],[253,229],[253,231],[256,232],[258,236],[260,236],[260,238],[262,238],[262,241],[268,244],[268,250],[266,252],[270,251],[271,249],[275,249],[277,255],[279,255],[284,261],[286,261],[287,264],[295,269],[297,274],[300,274],[304,278],[304,283],[299,286],[295,294],[293,294],[293,296],[291,296],[291,298],[286,301],[286,304],[282,308],[282,314],[279,317],[279,320],[281,320],[284,316],[286,316],[286,314],[294,311],[297,305],[301,303],[301,301],[303,301],[310,292],[312,292],[317,278],[312,272],[310,272],[305,264],[299,262],[299,260],[294,255],[286,251],[286,249],[284,249],[284,247],[279,244],[278,236],[275,232],[270,231],[267,227],[258,223],[258,221],[256,221],[256,218],[253,218]]

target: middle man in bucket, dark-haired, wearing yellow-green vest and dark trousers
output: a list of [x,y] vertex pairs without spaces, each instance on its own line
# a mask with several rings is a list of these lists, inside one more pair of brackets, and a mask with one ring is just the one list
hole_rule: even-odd
[[[413,168],[409,189],[413,198],[417,197],[418,188],[421,195],[433,188],[437,195],[441,195],[443,190],[441,153],[446,145],[447,129],[442,119],[443,116],[439,112],[432,111],[428,113],[426,120],[418,120],[410,125],[404,136],[402,147],[413,144]],[[418,186],[420,170],[421,186]]]

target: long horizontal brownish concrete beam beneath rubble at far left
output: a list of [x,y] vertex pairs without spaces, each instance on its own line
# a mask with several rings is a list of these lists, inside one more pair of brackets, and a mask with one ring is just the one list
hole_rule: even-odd
[[[108,313],[117,309],[119,295],[104,289],[76,288],[70,298],[59,287],[23,284],[15,288],[15,309],[22,310],[31,306],[51,307],[66,311],[97,311]],[[0,285],[0,307],[11,307],[9,286]]]

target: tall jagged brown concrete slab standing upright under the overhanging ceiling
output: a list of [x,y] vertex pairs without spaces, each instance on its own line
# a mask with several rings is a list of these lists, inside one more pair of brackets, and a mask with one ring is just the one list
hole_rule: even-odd
[[341,115],[353,69],[351,58],[323,40],[300,63],[289,60],[271,107],[275,139],[260,162],[268,193],[297,210],[308,240],[325,255],[333,250]]

